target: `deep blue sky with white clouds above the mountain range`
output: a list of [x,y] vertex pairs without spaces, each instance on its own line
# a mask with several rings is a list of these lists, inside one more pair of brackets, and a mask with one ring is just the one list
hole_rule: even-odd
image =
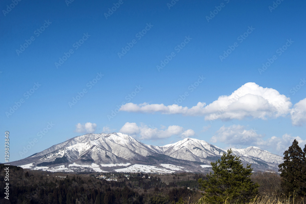
[[5,0],[0,8],[10,161],[91,132],[277,154],[295,138],[305,144],[304,1]]

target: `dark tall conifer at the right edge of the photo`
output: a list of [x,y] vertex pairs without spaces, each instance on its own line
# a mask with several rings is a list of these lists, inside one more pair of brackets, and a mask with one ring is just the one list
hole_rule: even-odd
[[306,145],[304,150],[300,148],[297,140],[294,140],[288,150],[284,152],[284,162],[279,164],[282,177],[282,187],[288,195],[293,193],[306,195]]

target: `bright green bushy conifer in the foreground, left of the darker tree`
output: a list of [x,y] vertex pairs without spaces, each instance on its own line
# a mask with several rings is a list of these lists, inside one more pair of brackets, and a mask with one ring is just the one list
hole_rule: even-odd
[[251,181],[251,165],[244,168],[231,149],[211,165],[214,173],[207,174],[208,180],[199,179],[207,203],[245,203],[257,195],[259,184]]

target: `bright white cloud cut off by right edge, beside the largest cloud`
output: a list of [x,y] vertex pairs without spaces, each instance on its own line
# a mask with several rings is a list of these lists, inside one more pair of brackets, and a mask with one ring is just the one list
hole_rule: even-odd
[[306,98],[297,102],[290,114],[293,126],[306,125]]

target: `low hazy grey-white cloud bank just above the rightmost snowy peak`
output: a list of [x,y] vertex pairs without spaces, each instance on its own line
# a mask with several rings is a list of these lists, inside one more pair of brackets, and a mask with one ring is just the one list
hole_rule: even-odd
[[264,139],[264,136],[257,134],[255,129],[246,130],[245,126],[232,125],[230,127],[222,126],[216,131],[210,142],[223,142],[233,148],[256,146],[264,150],[270,149],[271,152],[282,155],[294,139],[300,143],[303,149],[306,140],[301,139],[299,136],[293,137],[289,134],[284,134],[282,137],[272,136]]

